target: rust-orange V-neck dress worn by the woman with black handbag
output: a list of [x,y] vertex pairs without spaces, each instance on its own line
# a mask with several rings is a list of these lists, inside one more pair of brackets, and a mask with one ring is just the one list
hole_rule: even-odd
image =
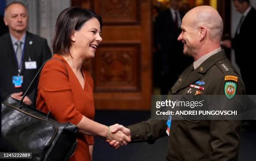
[[[57,121],[78,124],[82,116],[94,119],[93,80],[85,71],[84,89],[67,61],[60,55],[47,62],[41,71],[38,83],[36,107],[51,114]],[[68,71],[68,77],[67,77]],[[94,144],[93,136],[78,134],[78,144],[70,161],[90,161],[89,145]]]

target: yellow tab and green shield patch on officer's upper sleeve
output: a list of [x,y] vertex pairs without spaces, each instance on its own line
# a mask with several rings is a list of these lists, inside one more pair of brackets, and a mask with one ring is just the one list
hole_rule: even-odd
[[[235,82],[238,81],[238,77],[233,75],[227,75],[225,76],[224,80],[227,81],[225,82],[225,86],[224,86],[225,96],[228,99],[232,99],[236,95],[237,84]],[[231,82],[230,80],[234,82]]]

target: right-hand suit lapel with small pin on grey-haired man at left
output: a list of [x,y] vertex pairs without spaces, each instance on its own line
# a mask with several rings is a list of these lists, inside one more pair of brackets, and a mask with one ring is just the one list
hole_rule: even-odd
[[32,35],[27,32],[26,33],[26,39],[25,39],[25,51],[24,51],[24,56],[23,56],[23,61],[22,61],[22,69],[21,69],[21,74],[24,72],[25,70],[25,62],[28,61],[28,57],[31,56],[31,50],[33,48],[33,37]]

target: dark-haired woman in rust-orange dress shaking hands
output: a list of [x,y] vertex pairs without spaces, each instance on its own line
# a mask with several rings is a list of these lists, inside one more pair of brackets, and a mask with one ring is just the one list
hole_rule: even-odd
[[37,108],[59,122],[79,128],[78,144],[70,161],[91,161],[93,136],[115,140],[116,145],[131,141],[125,134],[110,133],[108,127],[93,121],[93,80],[82,69],[84,61],[95,56],[100,45],[102,20],[95,12],[80,7],[63,10],[56,22],[52,46],[54,56],[45,64],[38,83]]

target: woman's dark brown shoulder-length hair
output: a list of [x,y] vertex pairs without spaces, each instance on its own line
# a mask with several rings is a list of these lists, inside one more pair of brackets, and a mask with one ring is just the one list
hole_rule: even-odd
[[102,19],[99,15],[89,9],[81,7],[69,7],[63,10],[57,19],[52,48],[55,54],[69,55],[71,47],[71,36],[74,31],[79,31],[84,22],[91,18],[97,18],[102,27]]

